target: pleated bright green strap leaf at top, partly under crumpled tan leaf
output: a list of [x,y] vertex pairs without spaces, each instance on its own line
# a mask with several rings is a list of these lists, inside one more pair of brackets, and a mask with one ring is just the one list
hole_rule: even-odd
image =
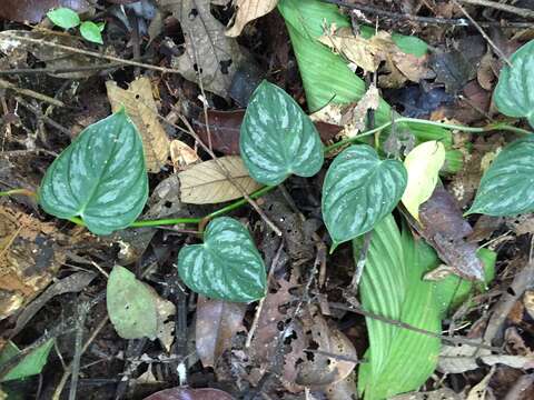
[[[324,34],[325,22],[338,28],[349,27],[348,19],[338,12],[336,6],[319,0],[280,0],[278,10],[289,31],[309,109],[317,110],[329,102],[358,101],[365,93],[364,81],[348,68],[342,56],[334,54],[317,41]],[[380,100],[375,122],[382,124],[395,114],[389,104]],[[445,129],[412,123],[406,123],[406,128],[419,142],[439,140],[447,150],[451,149],[452,136]],[[451,161],[447,167],[453,171],[452,160],[458,160],[458,153],[447,151],[447,160]]]

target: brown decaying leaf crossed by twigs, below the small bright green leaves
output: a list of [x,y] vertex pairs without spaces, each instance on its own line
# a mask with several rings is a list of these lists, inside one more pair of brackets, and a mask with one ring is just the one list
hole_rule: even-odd
[[55,73],[55,69],[87,67],[95,63],[95,59],[83,54],[67,52],[61,49],[49,46],[40,46],[18,40],[17,37],[43,40],[51,43],[69,46],[77,49],[83,49],[85,44],[81,38],[68,36],[53,31],[22,31],[7,30],[0,32],[0,51],[8,56],[8,60],[13,67],[26,64],[26,53],[30,52],[33,57],[47,63],[47,68],[51,70],[50,74],[63,79],[83,79],[96,73],[95,71],[77,71]]

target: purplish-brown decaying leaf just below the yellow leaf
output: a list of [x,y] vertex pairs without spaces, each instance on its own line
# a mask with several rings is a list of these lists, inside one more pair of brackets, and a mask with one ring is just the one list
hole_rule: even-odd
[[476,254],[477,246],[465,240],[473,230],[449,192],[436,188],[421,206],[419,221],[416,230],[456,274],[466,279],[484,279],[484,266]]

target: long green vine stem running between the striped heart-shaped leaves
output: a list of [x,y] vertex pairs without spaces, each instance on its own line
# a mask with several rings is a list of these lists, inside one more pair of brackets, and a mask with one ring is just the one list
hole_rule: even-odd
[[[343,146],[354,143],[358,141],[362,138],[375,134],[377,132],[380,132],[382,130],[389,128],[394,123],[402,123],[402,122],[409,122],[409,123],[419,123],[419,124],[426,124],[426,126],[432,126],[432,127],[441,127],[445,129],[451,129],[451,130],[461,130],[463,132],[469,132],[469,133],[485,133],[485,132],[491,132],[491,131],[496,131],[496,130],[503,130],[503,131],[510,131],[514,133],[520,133],[520,134],[533,134],[533,132],[527,131],[525,129],[516,128],[508,126],[506,123],[491,123],[485,127],[479,127],[479,128],[474,128],[474,127],[464,127],[459,124],[454,124],[454,123],[443,123],[443,122],[437,122],[437,121],[428,121],[428,120],[421,120],[416,118],[408,118],[408,117],[400,117],[395,120],[388,121],[383,123],[379,127],[376,127],[374,129],[367,130],[365,132],[362,132],[360,134],[355,136],[354,138],[348,138],[340,140],[334,144],[325,147],[325,153],[330,152],[333,150],[336,150]],[[273,189],[275,189],[276,186],[266,186],[263,187],[261,189],[255,191],[249,196],[250,199],[257,199],[260,198],[261,196],[268,193]],[[2,196],[14,196],[14,194],[23,194],[23,196],[33,196],[37,197],[37,193],[32,192],[31,190],[28,189],[12,189],[8,191],[0,191],[0,197]],[[140,220],[140,221],[135,221],[131,223],[128,228],[146,228],[146,227],[161,227],[161,226],[170,226],[170,224],[178,224],[178,223],[196,223],[200,227],[199,231],[204,231],[204,227],[212,220],[214,218],[224,216],[230,211],[234,211],[241,206],[246,204],[247,200],[246,199],[239,199],[226,207],[222,207],[221,209],[214,211],[209,214],[207,214],[204,218],[168,218],[168,219],[156,219],[156,220]],[[83,223],[83,220],[78,217],[71,217],[69,220],[78,226],[86,226]]]

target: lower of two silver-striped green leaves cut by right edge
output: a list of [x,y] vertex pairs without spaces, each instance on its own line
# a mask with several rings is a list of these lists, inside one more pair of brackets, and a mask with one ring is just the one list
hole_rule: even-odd
[[506,146],[484,173],[467,213],[514,216],[534,211],[534,138]]

